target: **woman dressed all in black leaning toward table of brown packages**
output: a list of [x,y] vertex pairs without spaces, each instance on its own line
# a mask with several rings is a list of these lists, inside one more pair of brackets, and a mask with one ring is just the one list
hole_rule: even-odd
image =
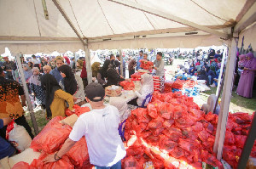
[[108,82],[106,84],[106,87],[111,86],[111,85],[117,86],[119,82],[125,81],[124,78],[119,76],[117,70],[113,69],[112,64],[108,65],[107,79],[108,79]]

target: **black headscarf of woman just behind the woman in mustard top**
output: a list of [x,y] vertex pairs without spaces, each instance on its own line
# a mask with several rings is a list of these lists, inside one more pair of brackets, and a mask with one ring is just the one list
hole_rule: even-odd
[[68,65],[61,65],[58,68],[59,71],[64,73],[66,77],[64,77],[64,87],[67,93],[73,95],[78,90],[78,83],[73,75],[71,68]]

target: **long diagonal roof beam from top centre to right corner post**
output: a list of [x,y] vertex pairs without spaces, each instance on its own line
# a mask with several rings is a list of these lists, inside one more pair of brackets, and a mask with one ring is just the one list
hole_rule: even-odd
[[220,31],[212,30],[212,29],[210,29],[210,28],[208,28],[207,26],[204,26],[204,25],[195,24],[194,22],[191,22],[189,20],[184,20],[184,19],[179,18],[177,16],[174,16],[172,14],[166,14],[164,12],[161,12],[160,10],[156,10],[154,8],[149,8],[149,7],[146,7],[146,6],[144,6],[142,4],[139,4],[139,3],[133,3],[130,0],[108,0],[108,1],[111,1],[113,3],[119,3],[121,5],[125,5],[125,6],[130,7],[130,8],[135,8],[135,9],[141,10],[141,11],[143,11],[145,13],[148,13],[148,14],[154,14],[154,15],[159,16],[161,18],[164,18],[166,20],[172,20],[172,21],[177,22],[177,23],[182,24],[182,25],[188,25],[189,27],[194,27],[198,30],[206,31],[207,33],[217,35],[218,37],[222,37],[224,39],[229,38],[228,34],[222,33]]

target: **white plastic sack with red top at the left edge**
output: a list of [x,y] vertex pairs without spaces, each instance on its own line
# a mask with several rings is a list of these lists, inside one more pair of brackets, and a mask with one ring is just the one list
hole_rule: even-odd
[[14,144],[15,148],[19,151],[29,148],[32,142],[32,138],[28,132],[26,132],[25,127],[17,125],[15,121],[12,121],[7,126],[6,138],[10,143]]

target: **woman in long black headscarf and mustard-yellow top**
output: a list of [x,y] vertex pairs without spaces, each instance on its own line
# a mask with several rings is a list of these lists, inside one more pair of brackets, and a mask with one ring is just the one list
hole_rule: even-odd
[[68,109],[73,111],[73,96],[61,89],[54,76],[49,74],[42,76],[41,83],[45,90],[47,118],[54,118],[58,115],[65,117],[66,101],[69,105]]

